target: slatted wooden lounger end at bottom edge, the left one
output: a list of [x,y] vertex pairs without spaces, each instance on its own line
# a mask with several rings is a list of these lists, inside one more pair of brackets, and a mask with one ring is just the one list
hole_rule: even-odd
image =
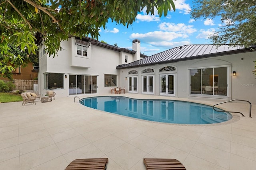
[[108,158],[75,159],[65,170],[106,170]]

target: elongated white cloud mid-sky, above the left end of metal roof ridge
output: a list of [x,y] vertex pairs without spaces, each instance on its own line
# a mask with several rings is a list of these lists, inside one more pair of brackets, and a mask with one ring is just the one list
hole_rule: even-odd
[[193,25],[186,25],[184,23],[167,23],[167,22],[163,22],[160,23],[158,25],[158,27],[160,28],[160,30],[164,30],[164,31],[174,31],[174,32],[178,32],[178,33],[194,33],[196,32],[196,29],[193,28]]

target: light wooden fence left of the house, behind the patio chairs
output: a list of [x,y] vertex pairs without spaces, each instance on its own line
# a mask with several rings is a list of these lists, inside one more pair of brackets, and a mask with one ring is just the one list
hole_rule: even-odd
[[14,85],[12,90],[33,90],[34,84],[38,84],[38,80],[10,80],[10,81],[4,81],[4,82],[9,82]]

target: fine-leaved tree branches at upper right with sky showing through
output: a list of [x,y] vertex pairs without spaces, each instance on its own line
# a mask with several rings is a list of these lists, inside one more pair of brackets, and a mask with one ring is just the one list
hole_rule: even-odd
[[256,44],[256,0],[194,0],[194,19],[221,17],[222,25],[210,36],[218,44]]

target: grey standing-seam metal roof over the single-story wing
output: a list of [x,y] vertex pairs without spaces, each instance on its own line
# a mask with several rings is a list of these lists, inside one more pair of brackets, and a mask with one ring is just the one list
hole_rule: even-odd
[[230,45],[184,45],[163,51],[138,61],[134,61],[132,63],[119,65],[116,67],[116,69],[173,63],[177,61],[216,57],[220,55],[230,55],[250,51],[252,51],[251,48],[244,48],[243,46],[232,47]]

